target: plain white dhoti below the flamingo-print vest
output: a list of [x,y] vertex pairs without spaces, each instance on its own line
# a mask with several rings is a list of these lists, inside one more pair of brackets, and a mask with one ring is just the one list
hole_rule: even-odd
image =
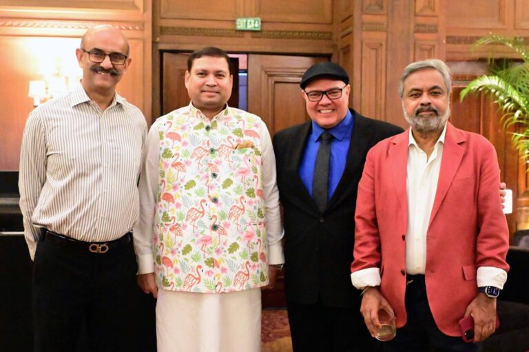
[[158,291],[158,352],[258,352],[261,290],[230,293]]

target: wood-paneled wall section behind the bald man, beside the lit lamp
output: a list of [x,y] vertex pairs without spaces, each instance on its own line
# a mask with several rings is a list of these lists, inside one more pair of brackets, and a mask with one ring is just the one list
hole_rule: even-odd
[[118,92],[143,110],[152,104],[151,0],[0,0],[0,170],[18,170],[25,120],[33,109],[29,81],[43,61],[76,66],[75,48],[94,25],[112,24],[129,38],[132,65]]

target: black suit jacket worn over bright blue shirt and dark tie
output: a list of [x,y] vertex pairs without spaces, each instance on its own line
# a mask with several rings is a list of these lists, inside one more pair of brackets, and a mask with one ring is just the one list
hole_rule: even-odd
[[280,201],[284,209],[285,291],[287,300],[329,307],[353,307],[360,294],[351,284],[358,182],[368,150],[402,128],[351,110],[355,125],[344,174],[321,212],[298,176],[311,121],[273,137]]

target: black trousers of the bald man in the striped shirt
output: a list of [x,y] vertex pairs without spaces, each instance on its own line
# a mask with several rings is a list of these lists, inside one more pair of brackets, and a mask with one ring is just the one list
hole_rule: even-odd
[[132,240],[91,253],[41,236],[33,267],[34,351],[73,352],[86,322],[90,351],[136,351]]

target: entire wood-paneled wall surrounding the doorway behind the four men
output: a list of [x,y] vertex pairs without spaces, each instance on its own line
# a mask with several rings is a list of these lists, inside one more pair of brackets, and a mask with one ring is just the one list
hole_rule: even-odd
[[[237,17],[261,17],[262,31],[236,31]],[[122,28],[130,39],[133,63],[118,91],[141,107],[149,123],[160,115],[163,52],[216,45],[248,54],[331,56],[351,76],[356,110],[404,127],[397,94],[404,67],[437,57],[464,86],[484,72],[488,49],[470,50],[479,37],[495,32],[529,38],[529,0],[0,0],[0,169],[18,169],[21,133],[32,110],[28,82],[39,61],[54,52],[73,56],[83,32],[101,23]],[[501,163],[502,173],[519,175],[522,194],[528,189],[525,166],[501,147],[508,141],[501,126],[484,129],[493,117],[476,106],[457,105],[453,112],[469,116],[459,123],[488,131],[498,154],[512,159]]]

